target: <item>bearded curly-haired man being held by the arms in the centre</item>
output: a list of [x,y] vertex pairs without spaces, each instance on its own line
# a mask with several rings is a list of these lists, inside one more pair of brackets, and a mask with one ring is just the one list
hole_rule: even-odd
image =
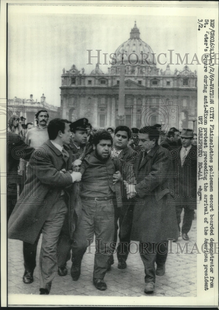
[[[120,179],[119,162],[110,158],[112,136],[99,131],[93,138],[93,153],[81,165],[82,213],[72,243],[71,276],[77,281],[81,274],[81,260],[96,237],[93,283],[98,290],[106,290],[103,280],[110,259],[110,243],[114,236],[114,205],[117,181]],[[116,184],[117,183],[117,184]]]

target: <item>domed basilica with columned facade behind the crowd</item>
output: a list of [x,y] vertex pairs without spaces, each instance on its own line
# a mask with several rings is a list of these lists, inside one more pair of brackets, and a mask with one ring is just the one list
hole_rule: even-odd
[[[197,75],[186,65],[182,71],[158,69],[151,47],[141,40],[135,23],[130,38],[115,55],[133,55],[112,64],[104,74],[96,64],[90,74],[75,64],[61,76],[63,118],[75,121],[87,117],[94,128],[123,124],[140,128],[159,123],[170,127],[194,129],[197,119]],[[142,54],[147,63],[142,64]],[[136,55],[138,57],[136,58]],[[136,59],[138,61],[136,61]]]

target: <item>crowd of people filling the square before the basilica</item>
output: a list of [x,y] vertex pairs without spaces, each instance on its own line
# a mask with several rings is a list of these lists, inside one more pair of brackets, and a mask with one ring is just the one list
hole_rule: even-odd
[[[160,124],[94,129],[36,114],[37,126],[10,117],[7,141],[8,238],[23,241],[25,284],[34,280],[37,244],[40,294],[56,273],[73,281],[94,241],[93,283],[106,290],[115,256],[127,267],[130,241],[139,241],[146,294],[165,273],[169,240],[188,232],[196,209],[197,135]],[[183,223],[181,213],[184,209]],[[119,242],[117,242],[119,240]]]

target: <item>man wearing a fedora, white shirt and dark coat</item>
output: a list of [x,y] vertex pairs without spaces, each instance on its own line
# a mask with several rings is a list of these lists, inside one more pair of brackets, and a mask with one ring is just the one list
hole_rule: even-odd
[[[191,144],[193,130],[182,129],[180,138],[182,146],[178,148],[178,156],[174,161],[174,168],[177,171],[176,214],[179,230],[178,237],[180,236],[182,208],[184,208],[181,232],[182,238],[189,240],[188,232],[191,229],[194,210],[196,209],[197,148]],[[177,238],[174,241],[177,241]]]

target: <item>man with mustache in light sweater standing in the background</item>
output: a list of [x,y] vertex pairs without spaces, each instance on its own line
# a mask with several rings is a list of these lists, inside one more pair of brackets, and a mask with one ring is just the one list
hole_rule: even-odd
[[39,110],[35,116],[37,126],[27,131],[24,142],[31,147],[37,148],[49,139],[47,131],[49,114],[46,110]]

